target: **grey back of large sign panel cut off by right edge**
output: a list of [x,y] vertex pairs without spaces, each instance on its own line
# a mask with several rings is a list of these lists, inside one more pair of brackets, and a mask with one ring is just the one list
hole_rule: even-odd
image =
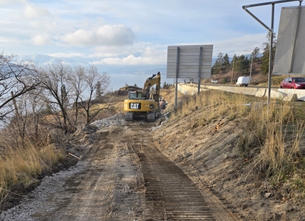
[[305,7],[283,7],[279,21],[273,73],[305,74]]

